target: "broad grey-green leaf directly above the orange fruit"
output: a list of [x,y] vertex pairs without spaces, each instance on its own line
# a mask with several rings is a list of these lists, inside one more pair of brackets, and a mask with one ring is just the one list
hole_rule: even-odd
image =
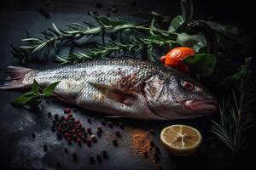
[[193,48],[196,53],[198,53],[201,48],[207,46],[206,37],[201,33],[189,35],[185,32],[182,32],[177,36],[177,43],[185,47]]

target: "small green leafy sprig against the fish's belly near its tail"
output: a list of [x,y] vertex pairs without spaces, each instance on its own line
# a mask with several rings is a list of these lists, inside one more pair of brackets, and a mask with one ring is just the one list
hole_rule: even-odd
[[40,103],[43,99],[49,97],[50,94],[54,91],[55,87],[59,82],[53,82],[48,87],[42,89],[39,87],[38,82],[34,80],[32,83],[32,90],[26,92],[25,94],[20,95],[14,99],[11,103],[14,105],[26,105],[26,104],[35,104]]

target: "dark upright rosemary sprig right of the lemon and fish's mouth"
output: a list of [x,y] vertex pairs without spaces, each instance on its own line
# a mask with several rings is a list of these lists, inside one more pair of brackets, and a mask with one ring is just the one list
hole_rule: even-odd
[[[248,71],[249,61],[246,59],[244,69]],[[236,85],[236,90],[233,89],[232,93],[226,99],[223,99],[219,105],[219,122],[212,121],[212,133],[218,136],[224,144],[226,144],[233,154],[239,154],[245,148],[244,131],[253,127],[250,123],[250,105],[254,101],[253,84],[251,77],[243,77],[239,85]]]

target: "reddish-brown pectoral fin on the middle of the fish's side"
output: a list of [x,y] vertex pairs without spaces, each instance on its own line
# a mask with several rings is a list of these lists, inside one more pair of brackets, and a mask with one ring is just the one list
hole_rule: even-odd
[[124,105],[131,105],[132,99],[137,99],[136,94],[127,93],[121,89],[109,87],[108,85],[99,84],[95,82],[89,82],[90,85],[102,90],[102,93],[105,94],[108,98],[113,99],[116,102],[122,103]]

